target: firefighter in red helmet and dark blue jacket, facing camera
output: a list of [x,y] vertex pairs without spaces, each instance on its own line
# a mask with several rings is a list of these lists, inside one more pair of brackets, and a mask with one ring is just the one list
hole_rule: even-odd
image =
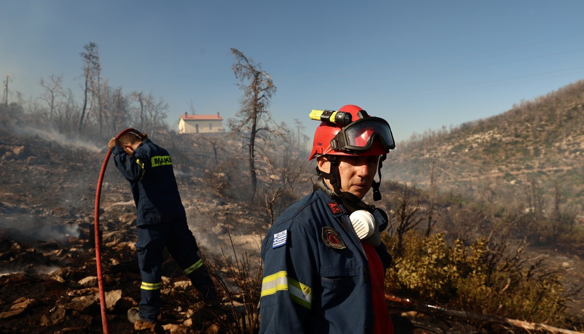
[[384,297],[391,256],[380,238],[387,215],[363,202],[370,189],[381,199],[391,128],[355,105],[310,117],[321,120],[309,157],[318,179],[262,243],[260,333],[393,333]]

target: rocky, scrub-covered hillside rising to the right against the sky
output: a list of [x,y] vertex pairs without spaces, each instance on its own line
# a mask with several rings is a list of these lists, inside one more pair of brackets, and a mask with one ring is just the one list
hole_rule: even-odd
[[442,191],[529,207],[539,197],[543,210],[584,211],[584,81],[400,144],[388,178],[427,186],[433,175]]

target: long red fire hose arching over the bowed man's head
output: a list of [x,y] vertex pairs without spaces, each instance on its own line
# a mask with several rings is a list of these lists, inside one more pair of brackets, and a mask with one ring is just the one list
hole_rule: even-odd
[[[140,132],[138,130],[135,130],[133,128],[127,128],[126,130],[121,131],[120,134],[118,134],[116,136],[116,139],[120,139],[121,136],[123,136],[124,134],[126,134],[128,132],[134,132],[134,133],[140,134]],[[102,259],[101,259],[102,254],[101,254],[101,250],[100,250],[101,240],[99,238],[99,198],[102,194],[103,175],[105,175],[105,173],[106,173],[107,162],[109,161],[110,155],[112,155],[112,150],[108,149],[107,154],[106,154],[106,158],[103,161],[102,171],[99,173],[98,187],[95,191],[95,213],[93,214],[95,216],[95,227],[94,227],[94,229],[95,229],[95,260],[96,260],[96,265],[98,268],[99,304],[102,308],[102,326],[103,326],[103,333],[104,334],[109,334],[109,330],[107,330],[106,294],[105,294],[105,291],[103,290]]]

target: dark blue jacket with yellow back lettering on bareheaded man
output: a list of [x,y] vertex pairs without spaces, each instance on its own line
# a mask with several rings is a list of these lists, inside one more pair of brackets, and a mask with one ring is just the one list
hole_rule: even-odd
[[184,217],[172,159],[166,149],[150,139],[138,146],[132,157],[123,148],[112,148],[114,162],[130,181],[137,209],[137,225],[158,224]]

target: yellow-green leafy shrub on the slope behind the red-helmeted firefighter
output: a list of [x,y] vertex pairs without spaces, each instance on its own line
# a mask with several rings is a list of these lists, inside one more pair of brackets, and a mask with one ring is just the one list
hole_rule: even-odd
[[[384,242],[395,247],[393,236],[384,236]],[[442,233],[425,238],[412,230],[388,270],[386,287],[453,309],[561,326],[566,311],[561,272],[545,269],[541,261],[527,265],[522,250],[510,254],[486,239],[449,245]]]

